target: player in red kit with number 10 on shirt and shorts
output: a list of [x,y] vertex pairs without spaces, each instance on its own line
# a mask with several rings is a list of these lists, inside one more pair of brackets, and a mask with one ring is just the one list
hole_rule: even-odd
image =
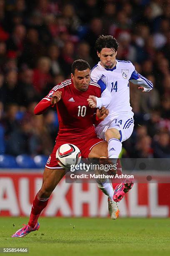
[[[90,66],[87,61],[76,60],[72,64],[71,79],[56,85],[35,107],[35,115],[40,115],[57,105],[59,132],[52,154],[45,165],[42,187],[33,200],[28,225],[16,231],[12,237],[23,237],[39,229],[38,217],[46,207],[52,191],[65,175],[65,169],[61,168],[56,160],[56,151],[62,144],[74,144],[80,149],[83,158],[108,156],[107,142],[97,138],[95,133],[95,110],[87,102],[90,95],[100,97],[101,93],[100,86],[90,81]],[[102,111],[97,110],[98,118],[104,119],[107,115],[108,111],[105,108],[102,108]],[[117,203],[113,203],[117,218],[119,210]]]

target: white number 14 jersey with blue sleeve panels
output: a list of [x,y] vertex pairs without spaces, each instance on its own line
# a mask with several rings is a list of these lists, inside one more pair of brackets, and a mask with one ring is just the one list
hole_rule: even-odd
[[[150,91],[153,88],[152,82],[138,74],[130,61],[116,60],[116,66],[113,69],[102,67],[99,61],[91,70],[91,79],[97,82],[101,89],[106,86],[111,93],[112,99],[107,105],[109,115],[105,118],[107,120],[112,115],[117,116],[132,111],[129,81],[145,87],[145,91]],[[107,123],[107,120],[105,120],[105,123]]]

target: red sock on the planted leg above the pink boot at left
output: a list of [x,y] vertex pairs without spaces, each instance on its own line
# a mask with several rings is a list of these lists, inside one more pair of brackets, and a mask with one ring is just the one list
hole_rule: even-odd
[[35,199],[32,202],[30,220],[28,222],[28,225],[31,226],[32,228],[34,228],[37,224],[40,213],[47,206],[48,200],[49,198],[40,198],[39,192],[37,192],[37,195],[35,196]]

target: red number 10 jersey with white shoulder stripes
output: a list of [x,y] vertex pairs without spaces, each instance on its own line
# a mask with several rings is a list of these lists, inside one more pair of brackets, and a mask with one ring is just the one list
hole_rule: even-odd
[[72,79],[67,79],[53,87],[42,101],[50,101],[52,94],[56,91],[62,92],[61,99],[57,102],[59,120],[57,138],[81,138],[83,140],[96,136],[93,125],[95,109],[89,107],[87,99],[89,95],[100,97],[100,86],[90,81],[87,91],[81,92],[74,87]]

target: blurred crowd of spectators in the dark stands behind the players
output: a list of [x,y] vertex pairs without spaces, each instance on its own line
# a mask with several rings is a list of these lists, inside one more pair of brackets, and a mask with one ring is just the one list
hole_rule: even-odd
[[51,153],[57,113],[34,107],[75,59],[99,61],[102,34],[154,84],[149,93],[130,84],[135,129],[121,155],[170,157],[170,0],[0,0],[0,154]]

